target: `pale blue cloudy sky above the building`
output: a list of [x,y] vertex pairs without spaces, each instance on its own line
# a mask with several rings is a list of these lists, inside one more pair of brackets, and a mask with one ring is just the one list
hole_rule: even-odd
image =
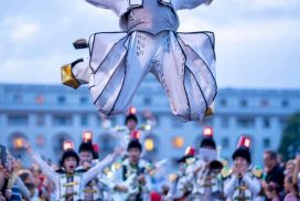
[[[300,0],[214,0],[179,12],[180,31],[214,31],[219,87],[300,88]],[[87,52],[72,42],[118,31],[85,0],[1,0],[0,83],[60,84],[60,66]]]

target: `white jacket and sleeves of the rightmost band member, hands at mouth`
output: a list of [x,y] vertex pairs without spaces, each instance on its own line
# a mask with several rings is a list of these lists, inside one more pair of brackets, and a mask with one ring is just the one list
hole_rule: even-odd
[[228,176],[224,181],[224,195],[227,201],[253,201],[261,189],[259,179],[249,170],[245,176]]

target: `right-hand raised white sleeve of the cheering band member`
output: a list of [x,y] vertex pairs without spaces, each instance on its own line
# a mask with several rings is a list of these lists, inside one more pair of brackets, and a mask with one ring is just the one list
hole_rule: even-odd
[[83,174],[83,186],[85,187],[93,178],[96,178],[103,169],[109,166],[115,160],[115,155],[108,155],[104,160],[98,162],[96,166],[90,168],[87,172]]

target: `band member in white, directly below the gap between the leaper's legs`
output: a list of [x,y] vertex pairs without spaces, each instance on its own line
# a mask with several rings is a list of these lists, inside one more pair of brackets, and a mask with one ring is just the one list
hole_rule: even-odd
[[148,201],[151,182],[147,174],[147,162],[140,159],[142,146],[131,140],[127,147],[128,158],[115,170],[109,187],[114,191],[114,201]]

